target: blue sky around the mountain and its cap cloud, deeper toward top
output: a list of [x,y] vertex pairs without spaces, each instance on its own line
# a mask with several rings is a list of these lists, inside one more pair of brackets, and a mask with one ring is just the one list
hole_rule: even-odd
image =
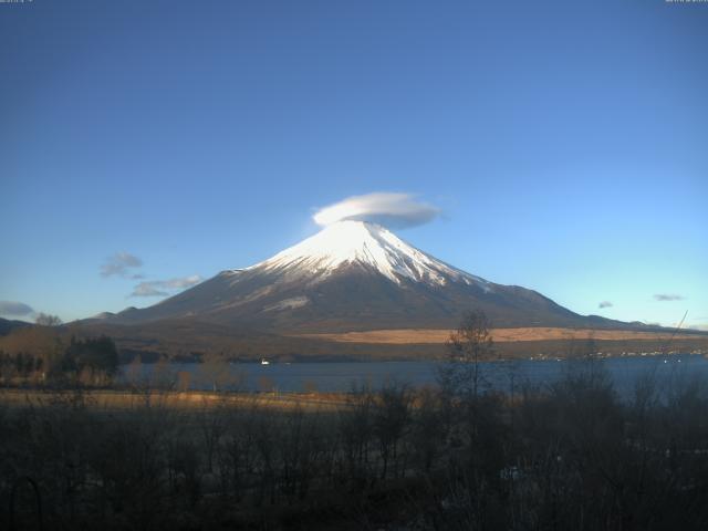
[[149,305],[393,191],[460,269],[708,327],[707,54],[665,0],[0,3],[0,311]]

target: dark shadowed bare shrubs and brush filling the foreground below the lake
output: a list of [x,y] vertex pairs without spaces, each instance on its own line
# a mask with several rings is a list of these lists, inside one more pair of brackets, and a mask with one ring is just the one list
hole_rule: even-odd
[[512,396],[473,367],[335,407],[220,393],[169,407],[149,389],[123,407],[81,389],[4,400],[0,528],[706,529],[702,383],[659,393],[647,377],[621,402],[586,362]]

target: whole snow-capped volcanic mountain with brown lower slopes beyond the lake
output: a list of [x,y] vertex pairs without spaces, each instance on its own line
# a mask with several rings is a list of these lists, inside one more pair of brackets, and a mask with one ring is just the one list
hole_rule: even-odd
[[452,329],[481,309],[494,327],[627,323],[582,316],[542,294],[496,284],[406,243],[388,229],[355,220],[322,231],[272,258],[216,277],[153,306],[105,323],[200,322],[277,334],[385,329]]

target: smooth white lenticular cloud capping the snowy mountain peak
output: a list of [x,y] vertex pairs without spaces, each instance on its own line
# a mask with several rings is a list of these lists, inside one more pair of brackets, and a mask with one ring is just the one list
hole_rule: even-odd
[[405,228],[427,223],[439,214],[439,209],[416,200],[412,194],[374,192],[347,197],[321,208],[313,219],[323,227],[337,221],[355,220]]

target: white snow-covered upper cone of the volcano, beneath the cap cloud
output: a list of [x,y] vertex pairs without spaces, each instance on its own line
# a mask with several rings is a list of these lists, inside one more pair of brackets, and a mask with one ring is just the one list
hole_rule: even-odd
[[483,279],[416,249],[379,225],[353,220],[325,227],[274,257],[240,271],[261,270],[288,278],[300,275],[324,280],[340,268],[353,264],[376,271],[398,284],[404,279],[437,285],[450,281],[488,284]]

